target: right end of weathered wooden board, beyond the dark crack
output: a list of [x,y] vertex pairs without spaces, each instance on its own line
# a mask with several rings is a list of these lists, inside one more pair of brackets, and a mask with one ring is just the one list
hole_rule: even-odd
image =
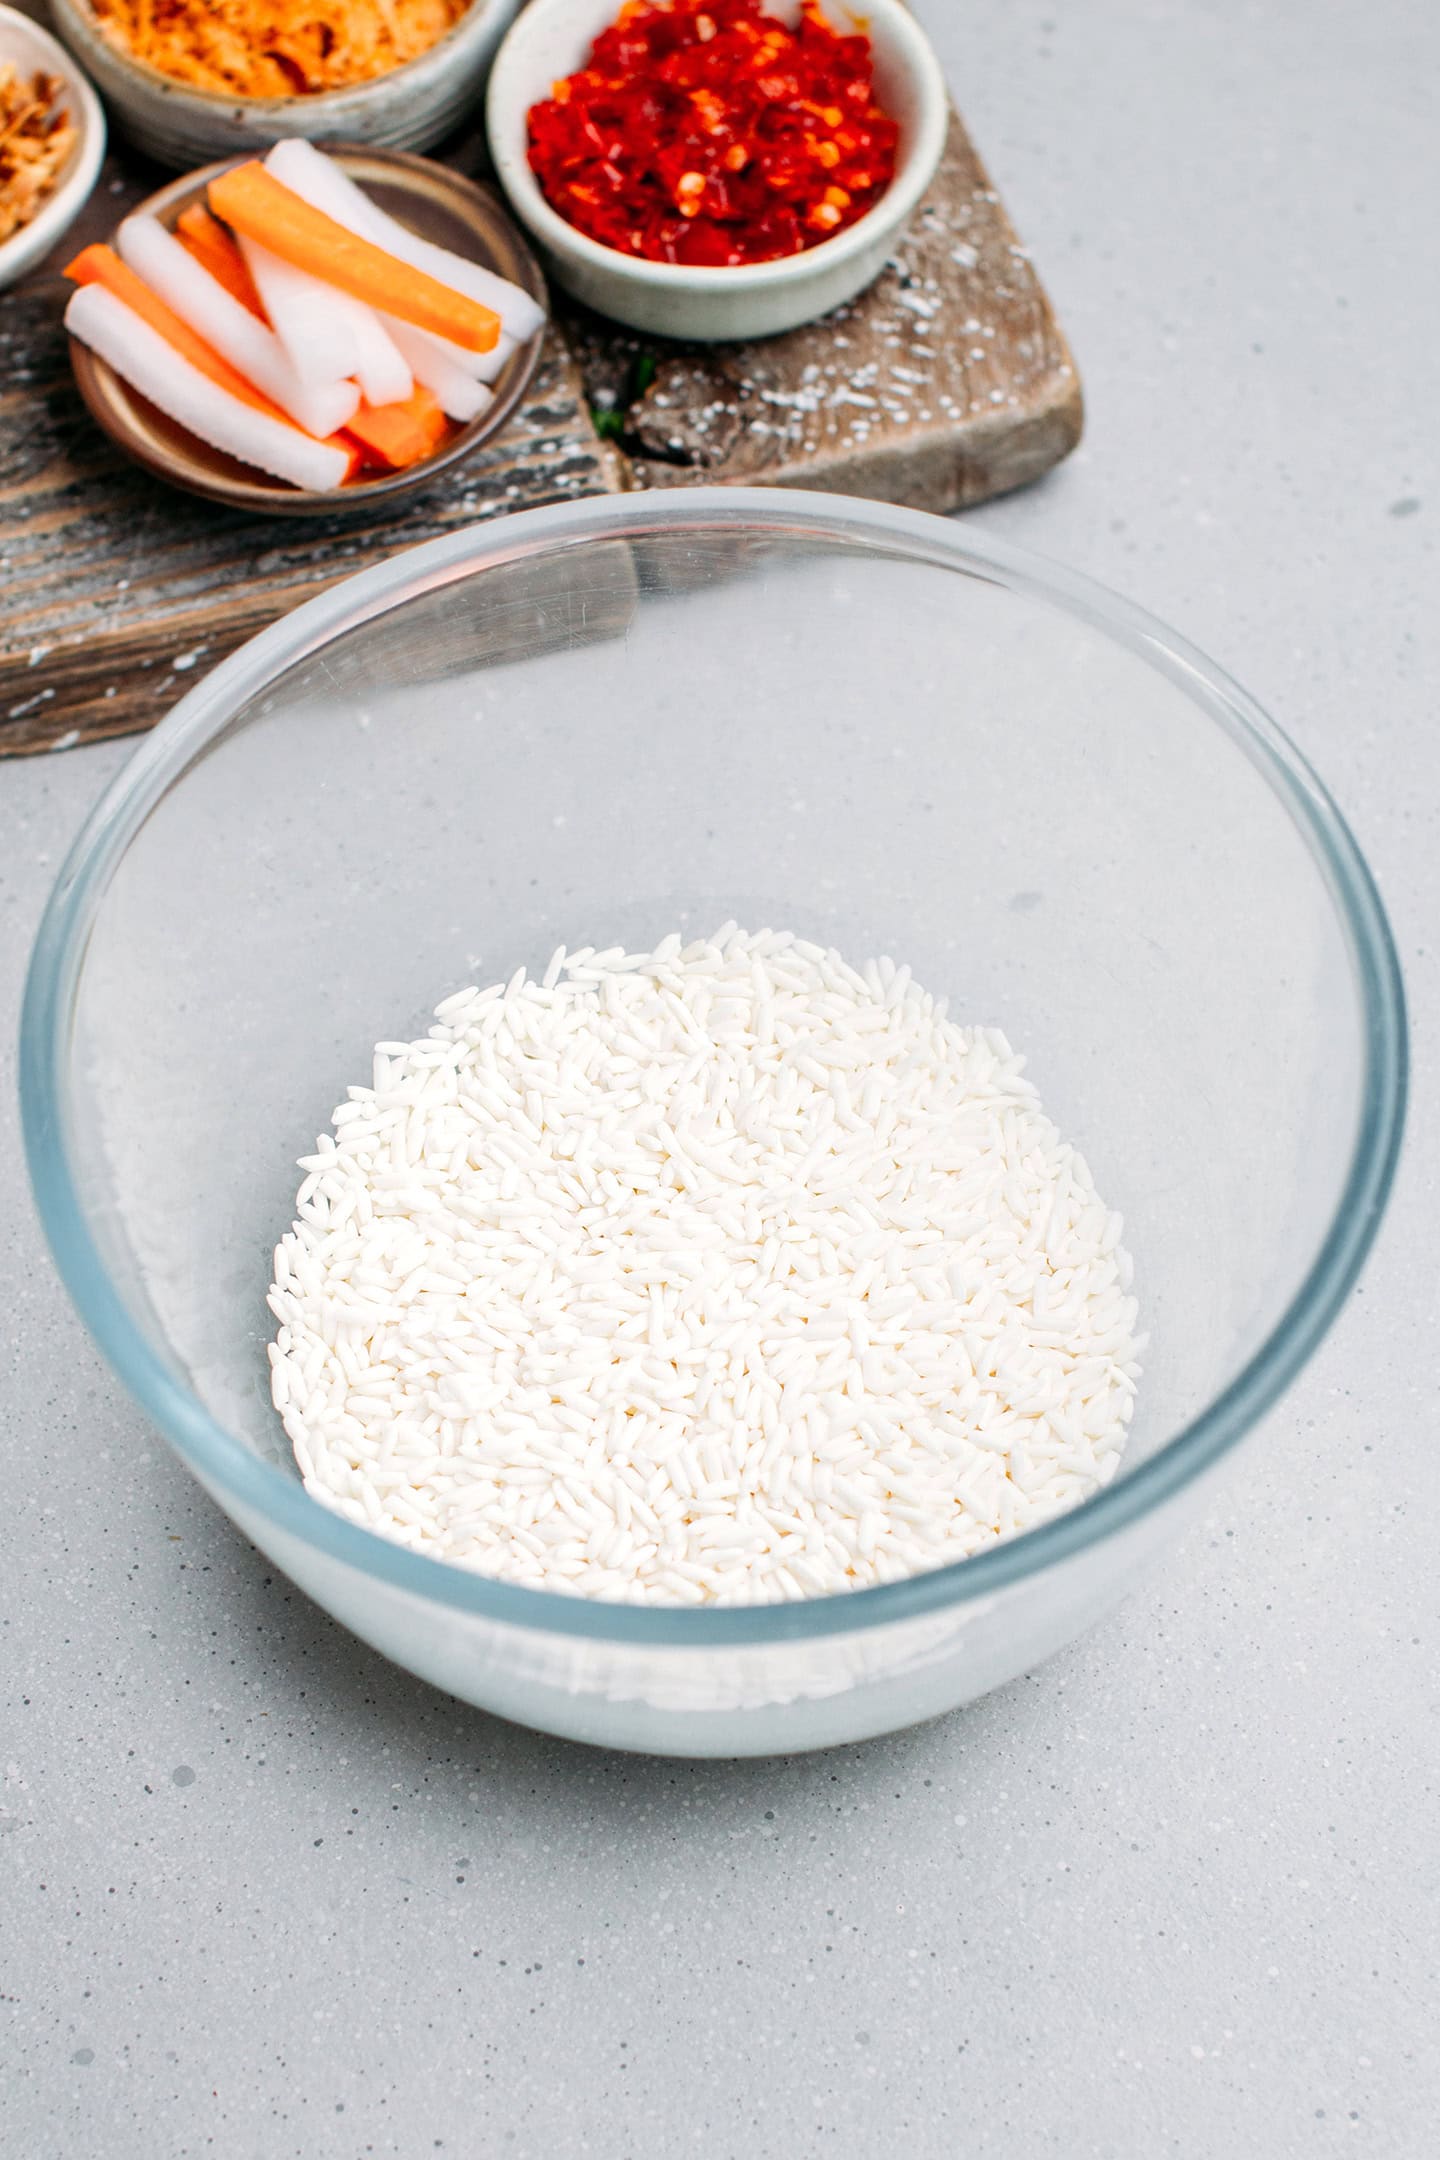
[[[1036,480],[1079,441],[1075,365],[959,117],[883,276],[825,322],[749,346],[665,346],[596,315],[570,315],[566,333],[592,404],[626,404],[630,486],[829,488],[961,510]],[[654,380],[626,402],[641,356]]]

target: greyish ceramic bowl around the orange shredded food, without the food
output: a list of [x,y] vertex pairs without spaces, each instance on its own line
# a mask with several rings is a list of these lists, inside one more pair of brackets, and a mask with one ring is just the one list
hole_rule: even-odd
[[99,28],[89,0],[50,0],[56,30],[89,67],[130,140],[160,164],[188,171],[218,158],[307,136],[363,149],[430,149],[479,97],[486,69],[518,0],[473,0],[417,60],[315,97],[222,97],[192,91],[132,60]]

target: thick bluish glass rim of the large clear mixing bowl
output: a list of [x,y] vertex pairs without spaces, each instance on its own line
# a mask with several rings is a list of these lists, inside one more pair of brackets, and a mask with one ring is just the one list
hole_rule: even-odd
[[[790,1605],[671,1609],[529,1590],[393,1544],[311,1499],[296,1477],[266,1462],[212,1417],[142,1337],[91,1238],[67,1112],[73,1007],[97,907],[151,808],[246,700],[337,633],[421,592],[596,538],[639,540],[687,529],[889,542],[920,562],[1000,581],[1054,605],[1153,665],[1228,734],[1306,842],[1336,909],[1362,1020],[1360,1115],[1330,1225],[1289,1305],[1228,1385],[1153,1456],[1069,1514],[926,1575]],[[425,1605],[516,1629],[656,1650],[848,1635],[974,1605],[1103,1544],[1174,1499],[1259,1421],[1334,1322],[1384,1214],[1405,1089],[1405,996],[1369,864],[1306,758],[1231,676],[1144,609],[1028,549],[920,510],[771,488],[589,497],[516,512],[361,570],[261,631],[179,700],[104,791],[73,840],[35,940],[19,1035],[26,1158],[60,1277],[114,1372],[212,1493],[233,1499],[283,1538]]]

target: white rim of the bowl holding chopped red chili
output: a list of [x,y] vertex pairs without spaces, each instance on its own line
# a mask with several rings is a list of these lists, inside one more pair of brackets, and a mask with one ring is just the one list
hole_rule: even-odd
[[522,104],[520,95],[510,95],[510,76],[518,65],[516,56],[525,52],[538,24],[544,24],[551,15],[559,15],[570,4],[572,0],[529,0],[529,6],[520,9],[501,39],[490,82],[486,84],[486,136],[490,138],[497,179],[510,197],[516,216],[529,225],[551,255],[570,255],[574,261],[589,264],[609,276],[626,279],[652,294],[769,292],[775,285],[797,285],[805,279],[827,276],[842,264],[877,246],[883,238],[889,238],[898,227],[909,222],[924,190],[935,179],[950,127],[950,89],[935,48],[911,11],[902,6],[902,0],[833,0],[833,4],[851,13],[868,30],[874,28],[877,19],[885,24],[885,32],[896,39],[902,67],[911,73],[920,95],[915,140],[879,203],[872,203],[864,218],[855,218],[855,225],[846,225],[844,231],[833,233],[829,240],[820,240],[799,255],[779,255],[762,264],[658,264],[648,255],[624,255],[620,248],[607,248],[551,207],[529,168],[529,160],[522,149],[516,151],[507,132],[516,110],[520,125],[525,125],[525,117],[529,114],[529,104]]

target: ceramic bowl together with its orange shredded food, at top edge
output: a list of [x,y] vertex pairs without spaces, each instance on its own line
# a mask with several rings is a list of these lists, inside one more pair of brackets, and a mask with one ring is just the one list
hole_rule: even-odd
[[479,97],[518,0],[52,0],[125,134],[188,168],[309,136],[427,149]]

